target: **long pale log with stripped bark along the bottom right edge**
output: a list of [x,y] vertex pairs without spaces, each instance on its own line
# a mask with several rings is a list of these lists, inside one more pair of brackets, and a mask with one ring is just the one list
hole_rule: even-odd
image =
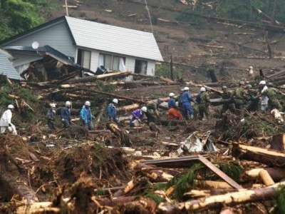
[[[234,193],[213,195],[207,198],[190,200],[185,203],[180,203],[178,206],[182,212],[191,213],[196,210],[220,208],[222,205],[237,205],[240,203],[272,200],[274,192],[279,185],[285,185],[285,182],[276,183],[266,188],[239,190],[238,192]],[[175,205],[166,205],[165,203],[161,203],[158,206],[158,210],[164,210],[164,213],[170,213],[170,210],[177,210],[177,207]]]

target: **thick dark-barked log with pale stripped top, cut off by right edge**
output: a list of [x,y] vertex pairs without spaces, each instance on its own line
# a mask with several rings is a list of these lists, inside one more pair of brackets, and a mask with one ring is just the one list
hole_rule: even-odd
[[248,161],[256,161],[266,165],[281,167],[285,165],[285,153],[269,151],[265,148],[232,143],[232,155]]

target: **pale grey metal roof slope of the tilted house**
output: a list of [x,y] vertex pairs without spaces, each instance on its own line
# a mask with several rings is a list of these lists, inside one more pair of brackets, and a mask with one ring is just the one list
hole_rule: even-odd
[[163,61],[151,33],[66,16],[77,46]]

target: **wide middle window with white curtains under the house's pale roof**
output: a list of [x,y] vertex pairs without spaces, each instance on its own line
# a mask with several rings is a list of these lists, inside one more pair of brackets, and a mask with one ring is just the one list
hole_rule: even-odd
[[108,70],[124,71],[125,58],[110,54],[99,54],[99,66],[104,66]]

